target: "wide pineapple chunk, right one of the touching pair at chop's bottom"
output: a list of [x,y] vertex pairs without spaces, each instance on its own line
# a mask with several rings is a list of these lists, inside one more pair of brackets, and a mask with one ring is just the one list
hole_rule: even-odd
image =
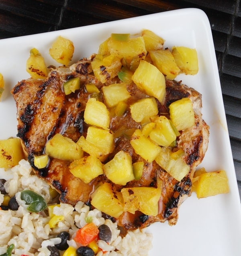
[[151,216],[158,214],[161,189],[155,187],[127,187],[121,189],[121,193],[124,201],[124,211],[135,214],[135,211],[138,210]]

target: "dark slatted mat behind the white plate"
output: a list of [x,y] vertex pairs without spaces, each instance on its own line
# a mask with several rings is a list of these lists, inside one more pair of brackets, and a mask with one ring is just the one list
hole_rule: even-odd
[[0,39],[189,7],[204,10],[212,28],[241,196],[240,0],[0,0]]

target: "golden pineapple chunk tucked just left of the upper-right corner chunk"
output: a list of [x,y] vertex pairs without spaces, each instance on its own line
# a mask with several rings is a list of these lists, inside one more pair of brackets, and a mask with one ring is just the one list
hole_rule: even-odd
[[174,56],[169,49],[150,51],[153,64],[163,73],[167,79],[173,80],[180,72]]

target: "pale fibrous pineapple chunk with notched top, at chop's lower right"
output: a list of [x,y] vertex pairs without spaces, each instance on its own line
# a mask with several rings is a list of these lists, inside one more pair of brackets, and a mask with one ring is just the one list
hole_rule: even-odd
[[172,158],[171,148],[161,148],[161,153],[155,158],[155,161],[178,181],[181,181],[190,172],[190,166],[186,164],[181,155],[177,159]]

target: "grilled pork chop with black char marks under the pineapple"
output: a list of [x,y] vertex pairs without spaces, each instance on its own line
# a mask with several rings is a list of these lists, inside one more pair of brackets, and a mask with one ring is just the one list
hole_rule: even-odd
[[[98,183],[106,181],[111,183],[105,175],[100,175],[89,184],[74,177],[69,171],[70,162],[51,159],[45,169],[37,169],[34,166],[34,156],[44,153],[46,142],[56,133],[71,138],[76,142],[81,135],[86,136],[88,125],[84,122],[84,110],[90,94],[85,89],[85,84],[95,84],[98,89],[103,85],[120,82],[118,78],[109,79],[107,83],[100,83],[93,75],[91,69],[91,58],[84,58],[70,67],[59,67],[52,69],[46,80],[27,79],[18,82],[12,89],[12,95],[16,101],[18,134],[23,148],[27,154],[35,173],[45,179],[52,187],[60,193],[60,201],[76,204],[84,201],[91,205],[90,194]],[[65,95],[62,85],[65,81],[80,77],[81,89],[74,93]],[[131,100],[146,97],[134,83],[127,86],[131,93]],[[137,155],[133,150],[130,139],[125,131],[141,128],[136,123],[129,110],[121,117],[112,117],[111,130],[118,134],[115,141],[115,150],[109,158],[119,150],[128,152],[133,162],[144,161],[143,176],[140,180],[134,180],[125,186],[112,183],[114,190],[120,191],[123,187],[157,187],[157,179],[163,181],[163,189],[159,200],[159,213],[157,216],[147,216],[142,212],[131,214],[124,212],[116,221],[125,229],[136,229],[147,227],[153,222],[168,221],[175,225],[178,220],[178,209],[187,196],[191,194],[192,177],[195,168],[204,158],[208,146],[209,127],[202,120],[202,96],[194,89],[183,85],[181,82],[166,80],[166,96],[163,104],[158,103],[159,114],[169,118],[169,105],[181,98],[190,98],[195,111],[195,125],[181,131],[177,137],[176,150],[182,148],[185,152],[183,158],[190,166],[190,172],[182,181],[177,181],[155,161],[149,163]],[[105,217],[106,216],[105,214]],[[110,217],[110,216],[109,216]],[[112,218],[114,219],[114,218]]]

